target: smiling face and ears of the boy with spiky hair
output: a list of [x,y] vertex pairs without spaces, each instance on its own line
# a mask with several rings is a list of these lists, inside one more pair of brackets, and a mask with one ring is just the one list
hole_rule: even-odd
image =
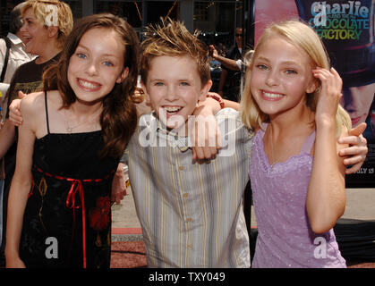
[[144,75],[145,83],[141,86],[152,109],[169,129],[180,130],[179,125],[187,127],[183,123],[192,115],[197,102],[205,99],[212,85],[211,80],[200,80],[200,74],[192,72],[197,69],[196,65],[190,55],[159,55],[150,61],[147,78]]

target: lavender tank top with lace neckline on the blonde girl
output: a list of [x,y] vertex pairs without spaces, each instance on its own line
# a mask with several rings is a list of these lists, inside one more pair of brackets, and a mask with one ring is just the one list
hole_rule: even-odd
[[345,268],[333,229],[311,231],[306,196],[311,176],[313,131],[298,156],[286,162],[268,163],[263,148],[264,131],[253,141],[249,175],[258,238],[253,268]]

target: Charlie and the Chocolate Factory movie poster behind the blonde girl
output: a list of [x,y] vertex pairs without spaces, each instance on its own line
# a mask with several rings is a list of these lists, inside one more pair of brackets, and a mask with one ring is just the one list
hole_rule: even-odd
[[343,79],[340,104],[353,126],[367,123],[369,153],[359,172],[346,176],[347,188],[375,188],[375,0],[254,0],[254,44],[271,21],[300,18],[317,31],[332,66]]

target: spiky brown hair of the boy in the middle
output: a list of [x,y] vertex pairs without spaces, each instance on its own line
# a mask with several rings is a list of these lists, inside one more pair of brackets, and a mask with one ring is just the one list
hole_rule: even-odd
[[209,50],[198,38],[200,32],[193,34],[180,21],[161,19],[161,24],[150,25],[146,38],[141,43],[141,80],[146,84],[151,60],[156,56],[189,55],[197,63],[201,85],[211,78],[209,73]]

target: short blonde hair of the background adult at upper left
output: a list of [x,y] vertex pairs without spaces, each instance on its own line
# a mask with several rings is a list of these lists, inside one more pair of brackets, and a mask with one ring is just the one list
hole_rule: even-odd
[[[54,5],[56,9],[51,9],[51,5]],[[62,48],[65,39],[72,31],[73,19],[70,6],[59,0],[28,0],[22,6],[22,17],[30,8],[40,24],[51,26],[52,23],[56,23],[54,26],[58,28],[57,46]],[[54,15],[55,11],[56,15]],[[51,19],[47,19],[48,16]],[[54,16],[56,19],[53,18]]]

